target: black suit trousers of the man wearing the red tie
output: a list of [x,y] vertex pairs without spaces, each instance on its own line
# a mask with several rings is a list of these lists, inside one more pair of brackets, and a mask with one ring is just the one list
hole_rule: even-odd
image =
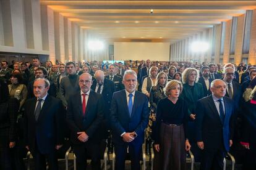
[[92,169],[100,170],[100,144],[88,140],[84,144],[74,144],[74,152],[77,157],[77,170],[84,170],[87,160],[92,160]]

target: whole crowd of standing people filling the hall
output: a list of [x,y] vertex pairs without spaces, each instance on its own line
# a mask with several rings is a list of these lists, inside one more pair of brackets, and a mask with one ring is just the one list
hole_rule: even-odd
[[108,139],[116,169],[140,169],[142,144],[153,169],[186,169],[186,152],[201,169],[223,169],[227,152],[256,169],[256,67],[150,60],[1,62],[0,169],[58,169],[70,146],[77,169],[100,169]]

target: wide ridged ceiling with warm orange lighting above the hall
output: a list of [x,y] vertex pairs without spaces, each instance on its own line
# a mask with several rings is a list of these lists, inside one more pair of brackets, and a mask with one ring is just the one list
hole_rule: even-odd
[[175,42],[256,9],[256,1],[239,0],[40,0],[40,3],[77,23],[88,34],[111,42],[133,39]]

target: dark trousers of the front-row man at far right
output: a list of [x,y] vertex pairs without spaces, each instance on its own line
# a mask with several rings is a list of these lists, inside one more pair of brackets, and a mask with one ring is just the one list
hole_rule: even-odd
[[203,150],[200,170],[222,170],[223,160],[226,152],[223,149],[211,151]]

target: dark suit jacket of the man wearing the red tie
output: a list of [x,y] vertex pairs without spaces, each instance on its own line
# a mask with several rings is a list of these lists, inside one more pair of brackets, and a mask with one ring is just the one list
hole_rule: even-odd
[[91,89],[85,116],[82,111],[82,99],[80,91],[70,96],[67,104],[67,124],[71,131],[70,140],[73,144],[83,144],[77,139],[77,132],[85,132],[89,140],[100,142],[100,124],[103,120],[104,102],[102,95]]

